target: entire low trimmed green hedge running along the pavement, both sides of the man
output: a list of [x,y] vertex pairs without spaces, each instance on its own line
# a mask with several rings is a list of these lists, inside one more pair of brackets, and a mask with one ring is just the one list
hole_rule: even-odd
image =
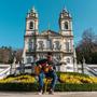
[[[38,83],[0,83],[0,91],[38,92]],[[58,83],[55,92],[92,92],[97,91],[97,84],[65,84]]]

